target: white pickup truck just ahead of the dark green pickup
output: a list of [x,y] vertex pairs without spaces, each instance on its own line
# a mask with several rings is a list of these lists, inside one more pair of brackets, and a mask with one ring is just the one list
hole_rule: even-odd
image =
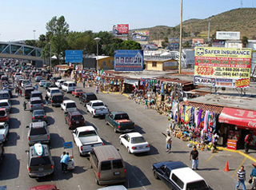
[[87,112],[91,113],[91,117],[105,116],[109,113],[109,109],[103,101],[89,101],[86,105]]

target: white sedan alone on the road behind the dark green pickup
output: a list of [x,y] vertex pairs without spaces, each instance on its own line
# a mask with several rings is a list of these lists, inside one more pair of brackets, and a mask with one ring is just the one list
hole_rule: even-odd
[[119,142],[132,154],[150,151],[150,144],[138,132],[120,135]]

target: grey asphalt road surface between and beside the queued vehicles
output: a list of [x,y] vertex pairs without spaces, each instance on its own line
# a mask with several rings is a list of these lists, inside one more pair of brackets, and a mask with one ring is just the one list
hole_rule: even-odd
[[[82,86],[82,84],[79,84]],[[39,87],[39,90],[45,95],[46,91]],[[86,93],[94,92],[94,88],[86,88]],[[151,165],[155,162],[164,160],[181,160],[190,166],[189,154],[191,148],[187,148],[186,142],[174,138],[173,148],[170,154],[165,150],[165,133],[168,121],[166,117],[159,115],[154,110],[144,109],[142,105],[137,105],[134,101],[120,94],[99,93],[98,99],[101,99],[108,105],[111,111],[125,111],[136,124],[136,131],[142,133],[146,141],[150,143],[150,152],[142,155],[129,154],[121,144],[118,137],[120,133],[114,133],[110,125],[105,125],[104,119],[93,118],[86,113],[86,109],[79,104],[78,98],[65,94],[66,99],[73,99],[77,102],[78,109],[86,118],[86,125],[94,125],[98,129],[98,134],[102,137],[105,144],[113,144],[119,149],[122,158],[126,163],[127,180],[126,188],[129,189],[168,189],[161,180],[155,180],[151,171]],[[0,166],[0,185],[7,185],[8,190],[29,189],[39,184],[56,184],[61,190],[67,189],[97,189],[94,182],[94,173],[90,168],[90,161],[86,156],[79,156],[78,148],[73,148],[75,169],[69,173],[61,172],[60,156],[64,149],[62,143],[73,141],[71,130],[67,128],[64,121],[62,110],[46,105],[46,113],[50,126],[50,148],[54,159],[54,174],[42,178],[30,178],[26,169],[27,154],[29,148],[26,141],[28,129],[26,125],[30,124],[31,113],[22,110],[23,97],[12,99],[12,112],[10,119],[10,134],[8,142],[5,144],[6,156]],[[232,158],[232,159],[231,159]],[[231,172],[223,172],[226,160],[230,160]],[[234,189],[236,183],[236,168],[242,163],[250,171],[250,160],[245,160],[233,152],[199,152],[198,173],[203,176],[212,189]]]

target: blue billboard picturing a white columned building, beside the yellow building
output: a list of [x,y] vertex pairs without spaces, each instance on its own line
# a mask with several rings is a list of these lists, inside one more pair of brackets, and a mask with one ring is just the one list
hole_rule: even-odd
[[143,50],[115,50],[115,71],[142,71]]

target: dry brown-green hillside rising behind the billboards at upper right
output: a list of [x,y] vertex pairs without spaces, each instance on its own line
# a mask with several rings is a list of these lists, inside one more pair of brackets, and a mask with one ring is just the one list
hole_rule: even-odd
[[[240,8],[226,11],[222,14],[216,14],[210,17],[210,35],[216,31],[240,31],[241,38],[246,36],[249,39],[256,38],[256,8]],[[183,38],[207,38],[208,36],[208,18],[189,19],[183,22]],[[165,37],[178,38],[179,25],[154,26],[151,28],[136,29],[149,30],[150,40],[159,40]]]

